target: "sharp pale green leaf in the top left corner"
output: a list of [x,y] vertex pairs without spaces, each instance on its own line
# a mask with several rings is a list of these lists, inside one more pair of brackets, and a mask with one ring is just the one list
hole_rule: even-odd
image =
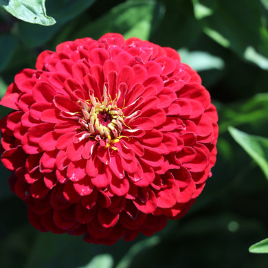
[[41,25],[56,23],[46,14],[45,0],[0,0],[0,6],[23,21]]

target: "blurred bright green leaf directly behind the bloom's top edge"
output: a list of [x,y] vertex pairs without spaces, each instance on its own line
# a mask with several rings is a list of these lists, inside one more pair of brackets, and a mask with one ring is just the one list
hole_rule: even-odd
[[76,37],[100,38],[107,32],[118,32],[125,38],[135,36],[147,40],[163,13],[164,6],[155,1],[127,1],[83,27]]

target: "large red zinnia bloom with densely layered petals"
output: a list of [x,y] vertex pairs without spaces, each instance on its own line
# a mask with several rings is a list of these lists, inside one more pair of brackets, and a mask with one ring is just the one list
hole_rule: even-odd
[[217,113],[179,54],[105,34],[42,52],[1,100],[1,160],[43,232],[111,245],[150,236],[197,199]]

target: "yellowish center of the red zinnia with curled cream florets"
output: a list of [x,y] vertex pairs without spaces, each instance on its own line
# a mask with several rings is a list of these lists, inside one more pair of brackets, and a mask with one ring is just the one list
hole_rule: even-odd
[[111,96],[107,96],[105,86],[102,102],[94,96],[92,90],[89,91],[89,97],[90,100],[80,100],[82,118],[78,122],[88,131],[89,137],[94,137],[101,146],[111,146],[116,150],[113,144],[122,137],[120,133],[124,124],[123,113],[117,107],[116,98],[111,100]]

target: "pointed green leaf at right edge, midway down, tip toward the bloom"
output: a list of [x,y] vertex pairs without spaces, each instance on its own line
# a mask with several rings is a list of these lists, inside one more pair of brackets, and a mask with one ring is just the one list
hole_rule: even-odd
[[228,131],[234,140],[254,159],[268,179],[268,139],[249,135],[232,126],[228,127]]

